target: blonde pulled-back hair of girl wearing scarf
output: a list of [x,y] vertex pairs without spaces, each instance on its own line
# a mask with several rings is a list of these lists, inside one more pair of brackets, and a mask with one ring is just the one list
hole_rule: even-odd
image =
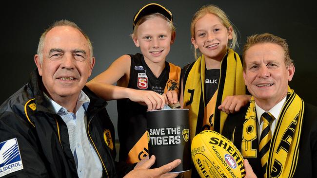
[[[202,6],[195,13],[195,15],[192,19],[192,23],[190,25],[191,37],[195,38],[195,25],[196,25],[198,19],[202,18],[206,14],[213,14],[213,15],[217,16],[219,18],[220,22],[222,23],[222,25],[225,26],[227,28],[227,30],[229,29],[229,27],[232,27],[232,40],[229,41],[229,47],[232,48],[233,50],[235,49],[236,46],[238,47],[239,46],[238,45],[238,37],[237,37],[237,33],[236,33],[236,30],[234,28],[233,23],[229,20],[226,13],[223,12],[216,5]],[[197,49],[195,49],[195,58],[198,58],[198,56],[200,56],[200,54],[198,55]]]

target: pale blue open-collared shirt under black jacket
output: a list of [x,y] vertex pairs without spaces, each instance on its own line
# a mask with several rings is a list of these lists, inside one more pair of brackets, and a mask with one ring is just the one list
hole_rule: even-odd
[[87,116],[90,99],[81,90],[76,104],[76,115],[68,112],[44,93],[51,103],[51,109],[58,114],[67,125],[70,149],[73,153],[79,178],[101,178],[102,165],[96,150],[87,136]]

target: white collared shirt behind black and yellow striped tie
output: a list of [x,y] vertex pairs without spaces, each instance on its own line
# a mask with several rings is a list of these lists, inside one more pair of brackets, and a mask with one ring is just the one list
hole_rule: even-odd
[[[263,121],[261,121],[261,115],[264,112],[270,112],[274,116],[274,120],[270,123],[270,128],[271,128],[271,132],[272,132],[272,136],[273,136],[274,130],[275,130],[275,127],[277,124],[277,120],[279,117],[279,113],[282,110],[282,107],[284,106],[285,102],[286,102],[286,96],[279,103],[277,103],[277,105],[272,107],[269,111],[265,111],[264,109],[259,107],[256,103],[257,119],[258,119],[258,138],[260,138],[260,136],[261,136],[262,127],[263,127]],[[258,141],[259,141],[259,139],[258,139]]]

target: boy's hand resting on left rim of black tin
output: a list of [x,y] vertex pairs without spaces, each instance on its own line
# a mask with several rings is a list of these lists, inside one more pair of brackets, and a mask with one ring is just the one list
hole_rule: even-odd
[[128,98],[141,105],[146,105],[147,110],[161,109],[165,105],[164,96],[149,90],[129,89]]

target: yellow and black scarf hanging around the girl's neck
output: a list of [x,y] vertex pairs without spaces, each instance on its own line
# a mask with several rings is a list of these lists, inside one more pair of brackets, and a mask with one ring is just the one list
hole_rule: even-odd
[[[184,108],[189,109],[191,139],[202,131],[204,124],[210,125],[209,118],[214,120],[211,129],[221,133],[227,114],[217,108],[226,96],[245,94],[242,76],[242,64],[239,55],[232,49],[223,57],[220,64],[218,89],[205,108],[204,101],[205,58],[201,55],[191,68],[184,73]],[[207,112],[208,111],[208,112]],[[204,120],[202,125],[199,120]]]

